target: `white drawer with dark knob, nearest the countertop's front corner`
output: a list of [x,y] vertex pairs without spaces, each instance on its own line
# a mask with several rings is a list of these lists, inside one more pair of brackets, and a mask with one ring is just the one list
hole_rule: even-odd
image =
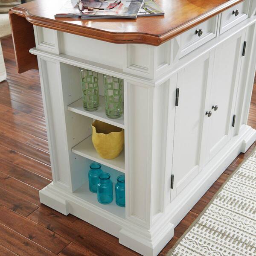
[[180,58],[215,38],[217,35],[217,16],[198,24],[180,35]]

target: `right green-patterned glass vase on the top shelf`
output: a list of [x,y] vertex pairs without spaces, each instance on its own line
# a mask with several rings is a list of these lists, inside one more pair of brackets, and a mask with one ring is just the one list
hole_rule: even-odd
[[104,76],[106,116],[116,119],[122,116],[122,91],[124,80],[113,76]]

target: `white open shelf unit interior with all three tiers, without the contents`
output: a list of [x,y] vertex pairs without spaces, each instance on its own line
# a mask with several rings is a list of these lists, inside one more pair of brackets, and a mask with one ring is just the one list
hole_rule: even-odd
[[[93,205],[99,210],[105,210],[120,218],[125,218],[125,207],[117,206],[115,201],[116,177],[125,173],[124,150],[115,159],[103,159],[94,148],[91,138],[91,125],[94,119],[123,128],[123,118],[112,120],[105,116],[102,77],[99,78],[99,93],[101,95],[99,110],[94,112],[84,111],[81,99],[79,67],[64,63],[61,63],[60,67],[67,146],[69,150],[70,181],[73,191],[71,193],[86,204]],[[113,201],[111,204],[100,204],[97,200],[97,194],[89,190],[88,172],[92,162],[102,164],[103,172],[108,172],[111,175],[113,182]]]

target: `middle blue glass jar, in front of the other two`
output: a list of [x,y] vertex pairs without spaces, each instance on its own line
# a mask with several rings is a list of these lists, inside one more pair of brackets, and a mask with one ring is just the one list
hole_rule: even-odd
[[102,172],[99,175],[98,183],[98,201],[101,204],[110,204],[113,201],[113,183],[110,180],[110,174]]

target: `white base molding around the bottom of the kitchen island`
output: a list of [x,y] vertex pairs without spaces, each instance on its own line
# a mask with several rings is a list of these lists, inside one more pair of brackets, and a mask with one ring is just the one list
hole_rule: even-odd
[[40,201],[58,212],[69,213],[119,238],[119,243],[145,256],[156,256],[174,236],[175,226],[204,195],[240,152],[256,140],[256,130],[244,125],[239,135],[221,149],[204,170],[158,214],[151,228],[113,215],[77,198],[57,183],[50,183],[39,192]]

